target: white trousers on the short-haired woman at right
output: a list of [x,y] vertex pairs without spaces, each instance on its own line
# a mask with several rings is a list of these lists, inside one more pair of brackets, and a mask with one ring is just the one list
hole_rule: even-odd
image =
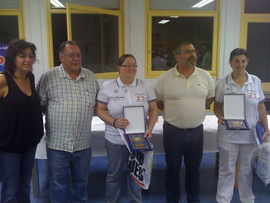
[[217,140],[219,149],[219,181],[216,200],[229,203],[235,184],[236,160],[238,157],[238,191],[241,203],[254,203],[252,193],[252,169],[258,152],[258,144],[235,144]]

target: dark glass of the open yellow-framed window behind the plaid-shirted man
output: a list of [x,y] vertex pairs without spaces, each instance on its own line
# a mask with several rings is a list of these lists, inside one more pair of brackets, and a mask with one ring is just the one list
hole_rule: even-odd
[[72,14],[72,39],[78,42],[82,67],[96,73],[115,72],[118,59],[118,16]]

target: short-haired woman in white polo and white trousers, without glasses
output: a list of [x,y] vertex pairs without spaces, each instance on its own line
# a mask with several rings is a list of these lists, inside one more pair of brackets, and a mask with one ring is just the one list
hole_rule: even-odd
[[[214,113],[219,119],[217,144],[219,149],[219,181],[216,200],[230,202],[235,183],[235,166],[238,157],[238,188],[241,202],[254,202],[252,193],[252,168],[255,163],[258,144],[254,135],[254,125],[260,119],[267,142],[269,129],[261,80],[246,72],[248,64],[245,49],[236,48],[230,54],[229,64],[233,71],[216,82]],[[226,130],[223,115],[223,94],[245,94],[246,121],[250,130]],[[236,104],[237,105],[237,104]],[[243,104],[239,104],[243,105]]]

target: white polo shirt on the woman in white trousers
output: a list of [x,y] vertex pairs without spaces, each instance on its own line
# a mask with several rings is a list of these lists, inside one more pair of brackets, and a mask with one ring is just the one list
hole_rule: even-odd
[[259,120],[258,104],[265,101],[261,80],[257,76],[248,74],[247,81],[241,88],[232,79],[232,73],[220,78],[216,82],[215,102],[223,104],[223,94],[245,94],[246,121],[250,130],[226,130],[218,122],[217,139],[239,144],[256,143],[254,125]]

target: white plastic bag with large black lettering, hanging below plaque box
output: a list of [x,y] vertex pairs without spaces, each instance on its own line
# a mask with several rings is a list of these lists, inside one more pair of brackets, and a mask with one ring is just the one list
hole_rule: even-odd
[[148,189],[151,181],[153,151],[130,153],[127,168],[131,176],[143,189]]

